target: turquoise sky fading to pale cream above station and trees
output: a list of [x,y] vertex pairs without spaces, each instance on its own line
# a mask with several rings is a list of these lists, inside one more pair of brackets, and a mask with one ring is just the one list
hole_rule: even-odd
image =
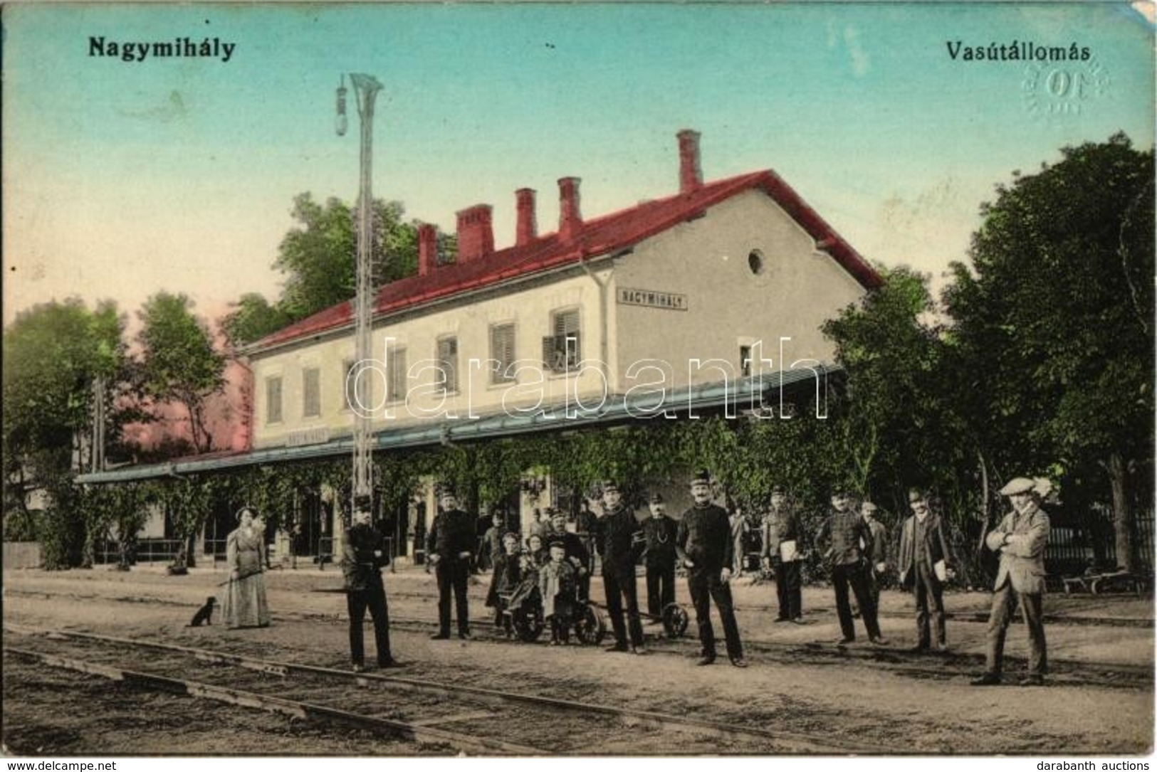
[[[1012,170],[1117,131],[1154,142],[1154,28],[1123,3],[9,5],[3,25],[6,324],[69,295],[132,312],[185,291],[211,317],[275,295],[294,195],[356,193],[344,72],[385,86],[375,195],[443,229],[492,203],[500,247],[518,187],[544,232],[559,177],[582,178],[585,216],[673,193],[695,128],[706,178],[775,169],[869,259],[939,276]],[[89,57],[94,36],[236,50],[123,62]],[[1091,59],[1030,70],[950,40]]]

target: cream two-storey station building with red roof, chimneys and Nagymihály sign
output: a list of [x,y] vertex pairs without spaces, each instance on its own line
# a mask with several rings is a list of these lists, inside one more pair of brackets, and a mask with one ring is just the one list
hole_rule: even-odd
[[[819,388],[833,369],[821,324],[879,277],[774,171],[703,181],[699,139],[678,134],[678,191],[628,209],[585,218],[580,179],[559,179],[553,232],[539,233],[536,191],[516,191],[515,243],[501,250],[486,203],[457,213],[455,262],[422,225],[417,275],[375,298],[370,362],[354,362],[354,304],[326,309],[245,351],[244,451],[82,481],[349,454],[355,410],[373,416],[375,453],[389,453],[697,408],[732,415],[771,387]],[[511,495],[525,528],[554,492],[547,476]],[[311,533],[340,537],[337,499],[319,491],[309,504]],[[399,554],[434,513],[430,488],[399,518]]]

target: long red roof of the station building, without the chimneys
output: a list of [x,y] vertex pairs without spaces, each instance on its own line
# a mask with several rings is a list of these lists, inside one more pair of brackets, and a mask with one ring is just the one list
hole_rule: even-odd
[[[731,196],[761,190],[798,222],[821,248],[864,288],[879,285],[880,277],[815,209],[808,206],[774,171],[758,171],[702,185],[690,193],[640,203],[582,223],[575,237],[563,242],[550,233],[522,246],[510,246],[474,260],[439,266],[426,276],[407,276],[377,292],[375,316],[401,311],[548,268],[576,263],[583,258],[619,252],[701,215]],[[353,302],[339,303],[263,337],[253,344],[265,349],[352,325]]]

